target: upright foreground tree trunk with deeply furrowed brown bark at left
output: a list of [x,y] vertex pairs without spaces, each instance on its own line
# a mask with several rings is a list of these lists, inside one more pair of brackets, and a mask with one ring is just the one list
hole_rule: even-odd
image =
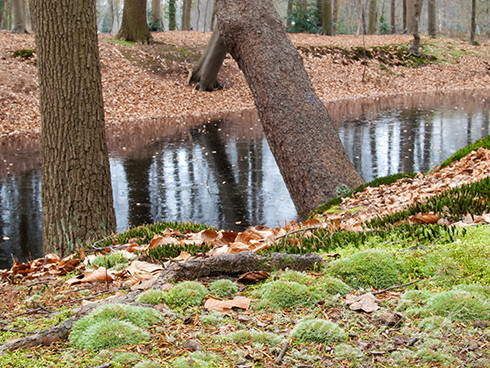
[[116,228],[95,1],[31,5],[37,19],[43,246],[64,255]]

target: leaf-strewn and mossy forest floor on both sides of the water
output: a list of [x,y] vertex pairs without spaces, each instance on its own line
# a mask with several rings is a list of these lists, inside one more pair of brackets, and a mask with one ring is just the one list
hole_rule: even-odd
[[[149,46],[101,36],[108,124],[253,106],[231,59],[220,74],[223,90],[187,85],[209,35],[165,32]],[[400,54],[410,36],[291,37],[324,100],[490,85],[488,43],[423,38],[420,64]],[[33,48],[30,35],[0,32],[0,136],[7,140],[39,135],[35,53],[13,56]],[[490,367],[488,137],[483,146],[446,168],[385,178],[304,224],[240,234],[154,224],[64,260],[16,262],[0,270],[0,368]],[[183,294],[166,284],[139,299],[151,311],[109,311],[109,323],[79,324],[69,339],[3,350],[73,317],[77,307],[142,292],[163,267],[247,249],[313,251],[325,264],[303,273],[203,277],[203,294],[195,284],[184,290],[196,292]],[[212,284],[221,277],[234,286]],[[155,310],[161,314],[148,322]]]

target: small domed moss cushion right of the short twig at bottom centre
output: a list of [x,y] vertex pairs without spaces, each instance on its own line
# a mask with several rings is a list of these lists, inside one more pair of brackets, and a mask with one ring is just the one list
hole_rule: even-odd
[[292,336],[301,342],[331,344],[347,338],[345,331],[334,322],[313,318],[300,321],[293,329]]

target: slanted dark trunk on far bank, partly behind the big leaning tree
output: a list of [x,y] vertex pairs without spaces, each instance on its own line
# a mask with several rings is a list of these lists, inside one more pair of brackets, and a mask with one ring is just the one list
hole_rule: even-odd
[[226,54],[223,38],[219,34],[218,27],[215,27],[206,50],[189,74],[189,84],[197,83],[196,89],[199,91],[214,91],[220,88],[218,73]]

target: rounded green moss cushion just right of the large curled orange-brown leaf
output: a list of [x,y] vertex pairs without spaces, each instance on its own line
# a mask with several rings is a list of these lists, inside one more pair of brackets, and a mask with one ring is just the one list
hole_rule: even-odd
[[294,281],[272,281],[262,285],[260,290],[262,306],[273,308],[296,308],[312,306],[319,300],[307,286]]

